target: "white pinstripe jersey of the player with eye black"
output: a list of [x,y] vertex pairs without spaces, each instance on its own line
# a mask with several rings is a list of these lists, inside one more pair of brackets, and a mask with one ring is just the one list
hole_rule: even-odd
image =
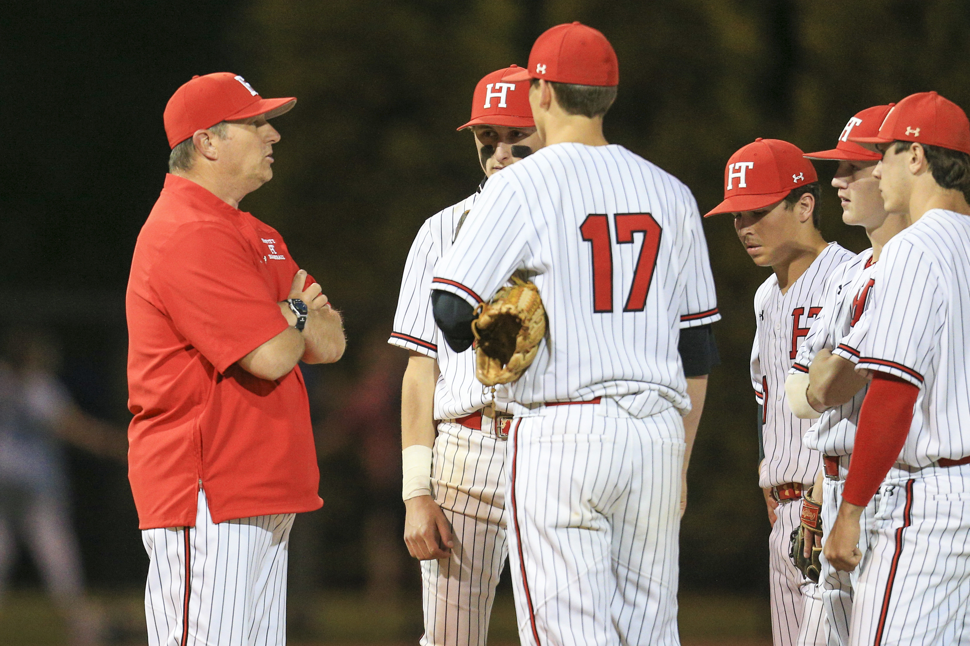
[[[438,211],[421,226],[404,264],[394,331],[388,343],[437,359],[435,418],[455,419],[474,413],[492,401],[475,379],[474,353],[455,353],[437,329],[431,309],[431,279],[435,263],[451,248],[462,217],[479,193]],[[464,225],[463,225],[464,228]],[[501,406],[499,409],[501,410]]]

